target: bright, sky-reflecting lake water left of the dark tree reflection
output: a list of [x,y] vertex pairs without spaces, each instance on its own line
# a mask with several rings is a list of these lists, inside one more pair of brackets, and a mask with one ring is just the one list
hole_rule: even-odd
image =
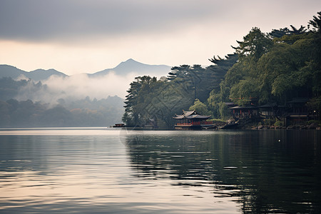
[[131,134],[45,133],[0,134],[0,213],[240,212],[204,187],[137,176],[122,143]]

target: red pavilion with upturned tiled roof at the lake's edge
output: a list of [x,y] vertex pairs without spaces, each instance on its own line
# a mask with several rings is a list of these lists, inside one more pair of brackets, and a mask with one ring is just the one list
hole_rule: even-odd
[[213,126],[213,121],[206,121],[210,116],[202,116],[196,111],[184,111],[181,115],[173,117],[175,119],[175,128],[202,128]]

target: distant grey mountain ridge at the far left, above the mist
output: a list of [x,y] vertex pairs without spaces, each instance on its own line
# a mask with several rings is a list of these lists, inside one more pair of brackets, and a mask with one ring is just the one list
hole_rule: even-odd
[[64,73],[56,71],[54,69],[44,70],[44,69],[37,69],[35,71],[23,71],[19,68],[9,65],[0,65],[0,78],[2,77],[11,77],[11,78],[18,78],[19,76],[26,76],[26,78],[31,78],[34,81],[41,81],[49,78],[52,75],[56,76],[67,76]]

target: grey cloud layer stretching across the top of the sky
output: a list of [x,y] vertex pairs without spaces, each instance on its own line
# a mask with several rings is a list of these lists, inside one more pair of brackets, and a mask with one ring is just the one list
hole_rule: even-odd
[[[0,39],[83,45],[128,35],[173,35],[195,26],[225,31],[238,25],[248,28],[249,24],[260,27],[286,20],[308,21],[317,13],[317,6],[321,6],[317,0],[2,0]],[[302,20],[305,11],[313,12]]]

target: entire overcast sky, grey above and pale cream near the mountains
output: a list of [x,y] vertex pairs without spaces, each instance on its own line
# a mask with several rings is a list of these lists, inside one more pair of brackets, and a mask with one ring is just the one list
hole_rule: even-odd
[[320,0],[0,0],[0,64],[68,75],[148,64],[210,65],[257,26],[307,26]]

